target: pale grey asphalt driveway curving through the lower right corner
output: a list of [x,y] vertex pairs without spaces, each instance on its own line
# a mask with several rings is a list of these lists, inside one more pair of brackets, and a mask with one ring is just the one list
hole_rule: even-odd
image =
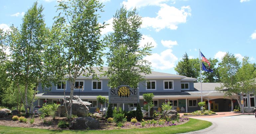
[[255,115],[236,115],[197,119],[210,121],[213,125],[205,130],[195,131],[190,134],[256,134]]

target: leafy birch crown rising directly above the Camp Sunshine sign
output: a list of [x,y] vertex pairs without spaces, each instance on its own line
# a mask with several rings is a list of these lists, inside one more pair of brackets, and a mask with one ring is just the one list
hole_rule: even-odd
[[151,73],[150,63],[143,58],[150,55],[150,43],[139,47],[142,34],[139,32],[142,20],[136,9],[127,11],[123,6],[113,17],[113,33],[107,35],[105,44],[109,48],[107,55],[109,78],[108,86],[137,84],[145,80],[142,74]]

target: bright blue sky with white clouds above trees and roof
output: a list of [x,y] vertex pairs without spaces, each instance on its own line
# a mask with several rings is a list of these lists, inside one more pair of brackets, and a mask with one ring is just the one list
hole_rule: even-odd
[[[152,55],[145,57],[154,71],[176,74],[174,67],[185,52],[189,58],[203,55],[218,59],[225,53],[238,60],[256,58],[256,0],[100,0],[105,6],[99,22],[109,25],[102,37],[112,32],[116,10],[136,7],[142,17],[140,45],[152,43]],[[24,13],[35,0],[0,0],[0,28],[20,27]],[[45,23],[51,27],[57,16],[57,0],[38,0],[44,7]],[[104,65],[106,66],[106,65]]]

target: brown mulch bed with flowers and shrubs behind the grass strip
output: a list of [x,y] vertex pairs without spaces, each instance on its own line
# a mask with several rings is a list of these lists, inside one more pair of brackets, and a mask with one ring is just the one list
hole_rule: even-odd
[[[35,121],[33,124],[30,124],[30,120],[32,117],[27,118],[27,123],[20,122],[20,121],[13,121],[12,120],[13,115],[9,115],[4,118],[0,118],[0,125],[5,126],[13,126],[13,127],[30,127],[30,128],[41,128],[41,129],[53,129],[53,130],[68,130],[68,128],[59,128],[58,122],[60,120],[65,120],[68,122],[71,122],[72,119],[67,120],[66,117],[56,117],[55,119],[52,119],[51,116],[46,116],[44,119],[40,119],[39,117],[34,117]],[[154,120],[159,120],[160,117],[154,118]],[[45,121],[44,121],[45,120]],[[132,122],[125,122],[123,123],[122,127],[117,127],[116,123],[108,123],[105,118],[98,118],[100,122],[100,129],[99,130],[113,130],[113,129],[134,129],[134,128],[150,128],[150,127],[164,127],[164,126],[173,126],[173,125],[181,125],[189,121],[189,118],[181,117],[180,121],[177,122],[167,122],[165,121],[164,124],[159,125],[158,123],[155,124],[145,124],[144,127],[142,127],[141,122],[132,123]],[[147,121],[147,119],[145,119]],[[148,120],[149,121],[149,120]]]

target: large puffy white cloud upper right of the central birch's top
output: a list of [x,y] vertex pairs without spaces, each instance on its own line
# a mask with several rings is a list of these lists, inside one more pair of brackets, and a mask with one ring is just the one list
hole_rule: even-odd
[[143,17],[142,28],[152,27],[156,31],[160,31],[164,28],[176,30],[178,24],[186,23],[187,17],[191,16],[190,6],[183,6],[181,9],[168,6],[167,4],[161,4],[161,9],[158,11],[155,18]]

